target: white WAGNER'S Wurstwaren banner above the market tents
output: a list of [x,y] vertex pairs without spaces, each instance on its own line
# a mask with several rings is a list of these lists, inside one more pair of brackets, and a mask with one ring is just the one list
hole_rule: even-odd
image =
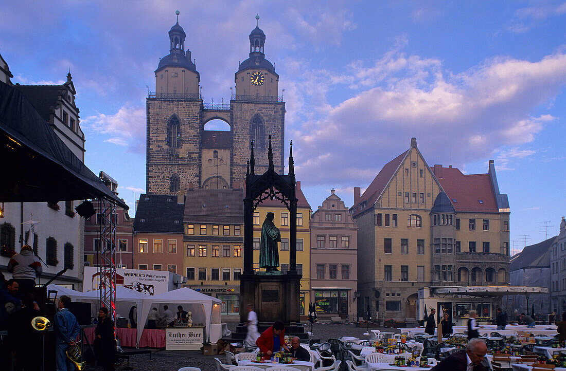
[[[141,294],[156,295],[169,291],[171,273],[161,270],[116,269],[116,286],[123,286]],[[84,267],[83,292],[98,290],[98,267]]]

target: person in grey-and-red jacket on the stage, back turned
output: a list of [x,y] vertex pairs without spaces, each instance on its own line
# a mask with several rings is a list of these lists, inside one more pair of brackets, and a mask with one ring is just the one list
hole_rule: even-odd
[[30,245],[23,245],[20,253],[12,256],[7,268],[8,272],[12,274],[12,278],[20,285],[20,294],[34,293],[35,280],[40,277],[43,269]]

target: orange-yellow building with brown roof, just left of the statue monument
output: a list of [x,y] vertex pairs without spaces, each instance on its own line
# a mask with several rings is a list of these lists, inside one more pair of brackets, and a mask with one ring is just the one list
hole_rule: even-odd
[[183,274],[187,287],[222,300],[224,321],[238,321],[241,310],[242,199],[242,189],[188,189],[185,199]]

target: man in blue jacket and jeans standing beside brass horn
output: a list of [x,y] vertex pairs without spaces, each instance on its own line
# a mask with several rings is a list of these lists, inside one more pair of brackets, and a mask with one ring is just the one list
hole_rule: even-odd
[[79,322],[76,321],[74,314],[68,310],[71,306],[71,298],[63,295],[57,303],[59,312],[55,314],[54,333],[55,333],[55,360],[57,361],[57,371],[74,371],[75,365],[67,359],[67,348],[75,345],[75,339],[79,335]]

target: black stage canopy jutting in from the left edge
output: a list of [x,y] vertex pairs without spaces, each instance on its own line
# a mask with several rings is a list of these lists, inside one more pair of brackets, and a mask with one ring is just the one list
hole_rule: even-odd
[[118,198],[17,89],[0,83],[0,202]]

